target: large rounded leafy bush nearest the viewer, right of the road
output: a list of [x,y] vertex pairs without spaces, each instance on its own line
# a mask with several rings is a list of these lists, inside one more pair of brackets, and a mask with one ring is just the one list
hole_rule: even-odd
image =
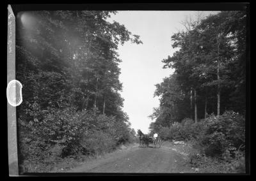
[[[235,156],[235,151],[245,143],[245,120],[235,112],[225,112],[220,117],[208,118],[209,126],[202,143],[208,156]],[[243,148],[242,148],[243,150]]]

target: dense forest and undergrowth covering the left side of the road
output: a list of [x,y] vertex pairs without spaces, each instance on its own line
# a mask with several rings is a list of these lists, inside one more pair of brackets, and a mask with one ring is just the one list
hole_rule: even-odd
[[49,171],[61,159],[108,152],[134,139],[122,110],[116,52],[140,37],[116,11],[25,11],[16,19],[21,171]]

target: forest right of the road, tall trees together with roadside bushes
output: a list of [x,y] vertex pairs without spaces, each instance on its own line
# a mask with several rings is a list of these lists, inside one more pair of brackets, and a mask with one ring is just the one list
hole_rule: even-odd
[[160,105],[149,116],[156,119],[150,131],[194,140],[203,155],[232,160],[245,144],[246,11],[198,14],[182,24],[185,30],[172,36],[177,51],[162,61],[175,71],[156,85]]

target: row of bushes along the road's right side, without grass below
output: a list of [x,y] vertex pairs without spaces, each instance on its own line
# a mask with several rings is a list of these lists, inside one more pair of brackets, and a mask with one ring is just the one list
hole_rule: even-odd
[[[162,129],[163,137],[168,139],[168,128]],[[198,147],[204,147],[206,156],[232,159],[236,150],[245,143],[245,120],[238,113],[227,111],[220,117],[209,115],[207,119],[194,122],[184,119],[174,122],[169,129],[170,139],[177,141],[196,140]],[[240,150],[240,151],[241,151]]]

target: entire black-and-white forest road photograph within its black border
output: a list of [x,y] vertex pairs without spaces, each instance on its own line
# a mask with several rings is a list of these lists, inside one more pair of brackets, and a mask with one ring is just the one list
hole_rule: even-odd
[[9,175],[250,173],[239,5],[8,5]]

